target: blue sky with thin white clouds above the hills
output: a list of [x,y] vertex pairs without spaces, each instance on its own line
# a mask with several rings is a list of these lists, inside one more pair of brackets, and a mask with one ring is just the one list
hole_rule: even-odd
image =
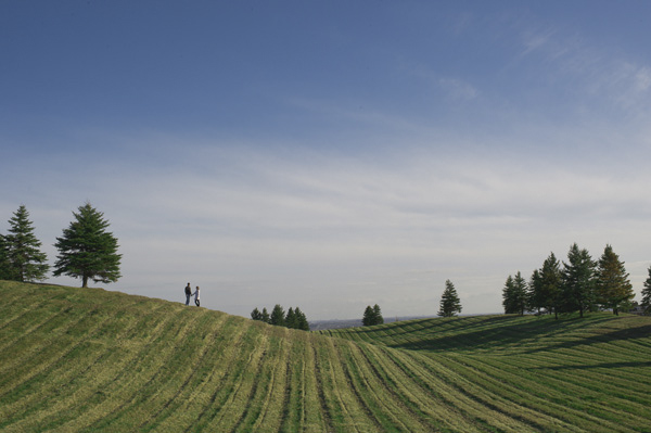
[[[646,1],[5,1],[0,231],[90,201],[108,290],[247,316],[501,310],[577,242],[651,265]],[[4,217],[2,217],[4,215]],[[49,281],[77,285],[79,281]],[[639,298],[639,295],[638,295]]]

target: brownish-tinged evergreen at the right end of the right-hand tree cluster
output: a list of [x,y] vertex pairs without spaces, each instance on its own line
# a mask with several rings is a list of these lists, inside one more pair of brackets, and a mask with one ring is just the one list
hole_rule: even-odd
[[622,305],[627,304],[635,296],[624,262],[620,262],[620,256],[611,245],[605,245],[599,258],[596,291],[598,302],[605,308],[612,308],[613,314],[617,316]]

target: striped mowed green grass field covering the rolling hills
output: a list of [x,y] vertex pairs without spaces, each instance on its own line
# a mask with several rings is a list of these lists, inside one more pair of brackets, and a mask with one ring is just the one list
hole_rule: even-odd
[[651,432],[651,318],[310,333],[0,281],[2,432]]

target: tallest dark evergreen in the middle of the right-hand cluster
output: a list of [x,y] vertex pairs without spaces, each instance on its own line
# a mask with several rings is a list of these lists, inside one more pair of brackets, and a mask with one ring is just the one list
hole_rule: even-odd
[[574,243],[567,253],[567,262],[563,262],[562,275],[562,309],[564,311],[591,310],[595,298],[596,263],[587,250],[579,250]]

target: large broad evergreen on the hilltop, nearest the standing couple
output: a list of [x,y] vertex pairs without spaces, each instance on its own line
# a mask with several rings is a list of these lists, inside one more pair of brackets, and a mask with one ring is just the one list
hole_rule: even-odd
[[73,215],[76,220],[63,230],[63,237],[56,238],[54,244],[60,253],[54,277],[80,277],[82,288],[88,286],[89,279],[103,283],[117,281],[122,277],[122,255],[117,254],[117,239],[106,231],[108,222],[104,214],[87,202]]

